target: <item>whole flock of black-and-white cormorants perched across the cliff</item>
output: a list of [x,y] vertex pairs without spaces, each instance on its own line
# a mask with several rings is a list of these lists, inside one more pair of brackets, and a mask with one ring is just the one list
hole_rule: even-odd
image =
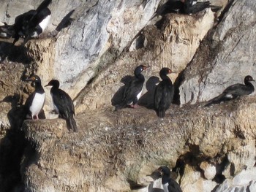
[[[4,23],[3,26],[0,26],[0,37],[13,38],[13,45],[15,45],[20,38],[24,39],[23,45],[25,45],[29,39],[38,37],[39,34],[45,30],[50,20],[50,9],[48,9],[48,5],[50,3],[51,0],[42,1],[37,9],[32,9],[22,15],[18,15],[18,17],[15,18],[15,23],[13,25]],[[219,7],[211,6],[209,1],[197,2],[197,0],[170,0],[168,3],[172,4],[171,9],[173,9],[173,11],[184,14],[200,12],[207,7],[219,9]],[[142,72],[146,69],[147,66],[145,65],[140,65],[135,68],[135,77],[132,80],[129,80],[127,85],[125,85],[121,101],[113,104],[115,106],[115,110],[121,110],[124,107],[138,107],[138,100],[142,95],[143,84],[145,82]],[[157,112],[157,116],[159,118],[165,118],[165,112],[169,109],[170,104],[173,101],[174,87],[172,81],[167,76],[167,74],[170,73],[172,73],[172,70],[167,67],[160,70],[159,76],[162,81],[159,82],[154,91],[154,110]],[[31,78],[27,79],[27,81],[34,82],[35,90],[26,100],[24,114],[26,115],[26,118],[30,118],[32,120],[39,119],[38,115],[45,104],[45,91],[42,87],[41,80],[37,75],[33,75]],[[222,94],[208,101],[205,107],[208,107],[211,104],[218,104],[222,101],[236,99],[238,96],[249,95],[255,91],[252,81],[254,81],[253,78],[247,75],[244,78],[244,85],[239,83],[231,85],[226,88]],[[59,118],[66,120],[67,128],[69,130],[78,131],[78,127],[74,119],[75,107],[70,96],[59,88],[58,80],[50,80],[48,85],[45,86],[52,86],[50,89],[50,95],[52,96],[54,109],[59,113]],[[167,168],[167,166],[161,166],[157,171],[162,173],[162,185],[165,192],[181,191],[178,183],[170,179],[170,169]]]

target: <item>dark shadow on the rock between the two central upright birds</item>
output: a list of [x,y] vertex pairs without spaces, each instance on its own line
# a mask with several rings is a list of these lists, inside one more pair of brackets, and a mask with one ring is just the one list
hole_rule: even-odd
[[152,76],[146,82],[147,92],[140,97],[138,104],[140,106],[146,107],[148,109],[154,109],[154,91],[157,88],[157,83],[159,83],[159,77]]

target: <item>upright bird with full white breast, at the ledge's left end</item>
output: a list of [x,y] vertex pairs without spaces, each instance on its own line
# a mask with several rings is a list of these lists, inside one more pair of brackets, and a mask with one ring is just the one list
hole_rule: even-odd
[[26,81],[34,82],[35,87],[34,92],[29,95],[25,102],[26,118],[31,118],[32,120],[34,120],[34,118],[39,119],[38,114],[45,104],[45,91],[42,88],[41,80],[37,75],[33,75],[31,78],[26,79]]

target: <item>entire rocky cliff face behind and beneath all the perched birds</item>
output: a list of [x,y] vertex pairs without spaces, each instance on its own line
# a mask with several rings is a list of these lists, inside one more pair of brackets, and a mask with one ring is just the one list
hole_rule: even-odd
[[[39,3],[3,1],[0,20],[12,24]],[[185,192],[255,191],[255,96],[201,102],[253,77],[256,3],[211,3],[222,9],[181,15],[160,0],[53,1],[42,37],[25,47],[0,39],[0,191],[159,191],[147,175],[162,165]],[[121,78],[139,64],[151,66],[144,107],[113,112]],[[162,66],[176,86],[164,120],[151,110]],[[50,113],[46,88],[46,119],[20,120],[32,73],[43,85],[60,80],[78,133]]]

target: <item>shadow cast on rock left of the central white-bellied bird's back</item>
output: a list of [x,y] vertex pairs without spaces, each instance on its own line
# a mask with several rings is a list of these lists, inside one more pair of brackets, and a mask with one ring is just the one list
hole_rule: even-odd
[[132,77],[130,75],[127,75],[125,77],[123,77],[121,79],[120,82],[124,83],[123,86],[121,86],[121,88],[118,89],[118,91],[116,91],[116,93],[113,95],[112,99],[111,99],[111,104],[113,106],[116,106],[117,104],[121,104],[121,101],[123,99],[123,94],[124,94],[124,89],[126,88],[127,85],[129,85],[129,82],[131,80],[133,80],[135,77]]

